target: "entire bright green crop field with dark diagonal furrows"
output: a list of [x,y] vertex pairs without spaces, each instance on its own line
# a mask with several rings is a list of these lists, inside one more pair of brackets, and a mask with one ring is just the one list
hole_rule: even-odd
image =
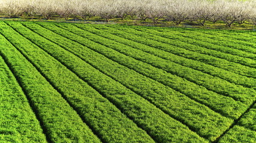
[[0,142],[256,142],[256,32],[0,21]]

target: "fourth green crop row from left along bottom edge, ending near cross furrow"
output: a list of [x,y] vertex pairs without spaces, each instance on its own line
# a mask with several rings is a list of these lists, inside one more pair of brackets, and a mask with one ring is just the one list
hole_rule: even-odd
[[[123,113],[127,114],[127,116],[130,119],[137,123],[137,125],[140,126],[140,128],[146,130],[147,133],[149,133],[149,135],[152,136],[153,139],[155,139],[155,141],[206,142],[204,139],[200,138],[196,133],[191,132],[191,130],[189,130],[185,125],[182,125],[180,122],[171,119],[171,117],[167,116],[167,114],[163,113],[161,110],[150,104],[150,102],[134,94],[134,92],[127,89],[121,83],[116,82],[115,80],[111,79],[110,77],[106,76],[105,74],[101,73],[100,71],[92,67],[90,64],[81,60],[79,57],[76,57],[76,55],[72,54],[71,52],[68,52],[72,50],[66,51],[61,46],[58,46],[55,43],[47,41],[47,39],[37,35],[36,33],[33,33],[31,30],[26,29],[26,27],[23,27],[22,25],[17,25],[16,23],[8,24],[10,24],[10,26],[14,27],[14,29],[19,31],[20,33],[22,33],[23,36],[26,36],[32,42],[40,46],[40,48],[44,49],[44,51],[46,51],[48,54],[55,57],[62,64],[67,66],[70,70],[76,73],[77,76],[79,76],[81,79],[85,80],[95,89],[97,89],[97,91],[100,91],[101,94],[103,94],[106,98],[112,101],[113,104],[119,107]],[[53,36],[56,38],[60,38],[60,36],[56,36],[51,32],[47,33],[49,31],[35,24],[23,24],[30,28],[33,27],[33,29],[36,30],[38,33],[41,33],[43,35],[46,34],[46,37]],[[67,39],[61,39],[59,39],[59,42],[63,43],[64,45],[67,42],[69,42]],[[70,46],[70,44],[72,43],[68,43],[68,46]],[[83,49],[79,48],[74,49],[81,50],[78,53],[83,51]],[[86,55],[94,58],[94,55],[91,53],[91,51],[87,52]],[[107,69],[108,68],[109,67],[107,67]],[[99,120],[102,120],[102,117]],[[121,136],[121,130],[119,130],[119,132],[115,132],[115,130],[112,129],[106,129],[104,131],[112,133],[113,135],[116,136],[116,138],[119,138],[119,136]],[[131,138],[131,136],[132,135],[130,135],[129,137]],[[180,136],[183,137],[180,138]],[[124,138],[124,136],[121,137]],[[142,136],[138,135],[137,137],[141,138]],[[144,139],[145,138],[146,136],[144,137]],[[145,139],[144,141],[150,142],[149,139]]]

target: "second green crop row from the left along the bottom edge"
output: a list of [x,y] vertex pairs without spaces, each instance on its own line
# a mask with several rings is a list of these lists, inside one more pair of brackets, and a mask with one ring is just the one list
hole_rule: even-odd
[[[51,142],[100,142],[61,94],[5,37],[15,45],[28,45],[26,41],[20,41],[18,35],[4,27],[6,26],[1,23],[0,32],[4,35],[0,36],[1,54],[31,101],[48,140]],[[33,49],[30,52],[32,51]],[[40,55],[37,56],[40,57]]]

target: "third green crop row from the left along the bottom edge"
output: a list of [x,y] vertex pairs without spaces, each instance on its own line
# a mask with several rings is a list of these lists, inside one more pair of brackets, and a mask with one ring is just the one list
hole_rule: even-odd
[[[22,25],[15,23],[13,26],[22,31],[24,35],[32,36],[28,29],[22,28]],[[11,30],[11,27],[7,25],[5,27],[11,33],[17,35],[16,39],[19,39],[17,41],[25,42],[23,45],[19,45],[20,48],[23,48],[20,50],[24,54],[29,53],[29,60],[71,102],[80,116],[82,116],[82,119],[85,120],[103,142],[154,142],[144,130],[138,128],[115,105],[102,97],[91,86],[77,77],[76,74],[59,63],[58,60],[55,60],[47,52],[33,45],[33,43],[20,36],[14,30]],[[35,40],[40,41],[40,38]],[[46,47],[50,48],[49,46]],[[58,52],[56,54],[61,55],[62,53]],[[74,61],[68,62],[73,63]]]

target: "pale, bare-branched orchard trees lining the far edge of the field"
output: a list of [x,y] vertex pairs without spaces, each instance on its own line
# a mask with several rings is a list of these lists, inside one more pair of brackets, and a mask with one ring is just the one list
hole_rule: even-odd
[[10,18],[27,15],[89,20],[97,16],[105,21],[112,18],[150,19],[154,24],[159,20],[176,24],[189,20],[201,26],[206,21],[223,21],[229,27],[245,21],[256,24],[255,1],[238,0],[4,0],[0,2],[0,10],[1,15]]

